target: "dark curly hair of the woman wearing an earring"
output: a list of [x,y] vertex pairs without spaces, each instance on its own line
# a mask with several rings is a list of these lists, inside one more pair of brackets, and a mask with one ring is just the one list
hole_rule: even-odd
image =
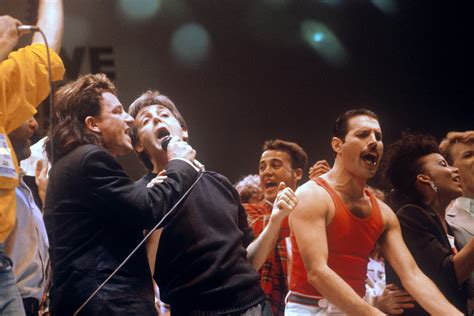
[[383,178],[393,187],[392,203],[401,206],[422,200],[416,190],[416,177],[422,172],[420,158],[439,153],[438,142],[429,134],[403,132],[388,146],[382,167]]

